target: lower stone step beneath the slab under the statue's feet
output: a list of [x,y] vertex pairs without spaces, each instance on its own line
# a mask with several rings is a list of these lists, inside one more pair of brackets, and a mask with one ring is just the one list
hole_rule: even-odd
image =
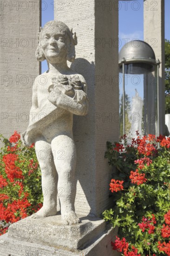
[[113,229],[106,229],[100,236],[96,236],[85,248],[69,249],[63,246],[49,246],[37,241],[28,242],[7,236],[0,236],[0,256],[119,256],[113,251],[111,240],[115,239],[116,233]]

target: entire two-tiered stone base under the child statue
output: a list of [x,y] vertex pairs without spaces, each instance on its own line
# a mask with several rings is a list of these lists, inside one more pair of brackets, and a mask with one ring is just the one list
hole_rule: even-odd
[[80,218],[62,225],[60,216],[26,218],[0,236],[0,256],[116,256],[111,248],[115,231],[101,219]]

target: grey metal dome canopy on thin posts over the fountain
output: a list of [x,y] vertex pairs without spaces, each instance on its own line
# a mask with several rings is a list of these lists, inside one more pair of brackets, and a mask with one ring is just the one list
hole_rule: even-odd
[[123,73],[123,133],[125,134],[125,74],[157,74],[157,135],[159,135],[159,65],[155,53],[149,44],[142,40],[133,40],[122,47],[119,52],[119,72]]

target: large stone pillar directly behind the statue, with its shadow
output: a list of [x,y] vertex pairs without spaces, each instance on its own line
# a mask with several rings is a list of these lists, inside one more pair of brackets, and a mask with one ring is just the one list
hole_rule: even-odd
[[104,158],[106,141],[118,141],[118,1],[69,0],[56,3],[54,19],[78,37],[71,68],[85,77],[89,113],[74,116],[76,141],[76,213],[101,216],[111,205],[111,168]]

